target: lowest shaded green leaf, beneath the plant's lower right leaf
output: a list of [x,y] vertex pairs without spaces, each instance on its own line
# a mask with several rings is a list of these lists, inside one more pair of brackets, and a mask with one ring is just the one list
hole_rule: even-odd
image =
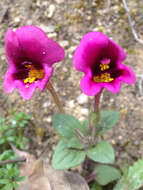
[[99,165],[94,170],[96,174],[96,180],[101,185],[107,185],[108,183],[120,178],[120,171],[112,166]]

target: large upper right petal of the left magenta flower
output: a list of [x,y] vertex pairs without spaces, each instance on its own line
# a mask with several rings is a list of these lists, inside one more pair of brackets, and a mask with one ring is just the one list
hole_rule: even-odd
[[45,62],[49,66],[64,58],[64,50],[36,26],[23,26],[16,36],[26,57],[32,61]]

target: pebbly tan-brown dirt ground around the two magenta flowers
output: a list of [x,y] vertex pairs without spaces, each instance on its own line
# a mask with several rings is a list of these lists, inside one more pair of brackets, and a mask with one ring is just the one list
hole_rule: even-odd
[[[128,0],[131,15],[139,37],[143,39],[143,1]],[[58,110],[48,92],[36,90],[29,101],[24,101],[17,90],[7,95],[3,90],[4,73],[8,68],[4,53],[4,36],[9,28],[37,25],[49,37],[65,48],[66,56],[54,65],[51,82],[55,87],[66,113],[84,120],[93,97],[80,96],[82,73],[73,68],[73,52],[82,36],[89,31],[102,31],[127,52],[125,64],[137,75],[134,85],[123,84],[118,94],[104,91],[101,107],[121,112],[120,123],[104,136],[116,148],[116,158],[121,161],[136,160],[143,156],[143,95],[139,91],[143,74],[143,45],[131,33],[122,2],[112,0],[108,8],[105,0],[0,0],[0,117],[9,117],[14,111],[32,115],[36,128],[45,130],[44,142],[30,134],[34,142],[31,152],[51,158],[57,137],[51,125],[51,116]],[[27,147],[28,149],[29,147]]]

